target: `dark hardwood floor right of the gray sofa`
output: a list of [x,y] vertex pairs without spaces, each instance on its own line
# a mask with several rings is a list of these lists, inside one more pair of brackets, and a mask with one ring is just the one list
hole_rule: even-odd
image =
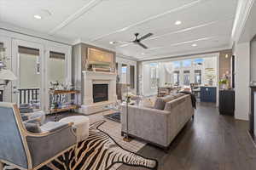
[[[221,116],[218,109],[201,103],[167,152],[146,145],[139,154],[159,161],[159,170],[255,170],[256,149],[247,134],[248,122]],[[123,165],[119,170],[141,167]]]

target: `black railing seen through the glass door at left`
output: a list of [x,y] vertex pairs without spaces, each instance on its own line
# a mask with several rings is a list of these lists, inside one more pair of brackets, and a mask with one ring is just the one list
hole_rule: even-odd
[[18,90],[20,104],[30,104],[32,101],[39,100],[40,88],[20,88]]

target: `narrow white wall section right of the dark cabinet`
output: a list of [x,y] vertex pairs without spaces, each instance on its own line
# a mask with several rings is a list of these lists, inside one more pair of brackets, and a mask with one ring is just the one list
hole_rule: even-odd
[[248,120],[249,113],[249,82],[250,82],[250,43],[236,44],[236,119]]

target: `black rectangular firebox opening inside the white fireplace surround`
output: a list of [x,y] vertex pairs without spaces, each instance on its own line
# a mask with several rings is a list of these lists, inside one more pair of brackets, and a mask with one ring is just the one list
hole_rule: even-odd
[[93,84],[93,103],[108,101],[108,84]]

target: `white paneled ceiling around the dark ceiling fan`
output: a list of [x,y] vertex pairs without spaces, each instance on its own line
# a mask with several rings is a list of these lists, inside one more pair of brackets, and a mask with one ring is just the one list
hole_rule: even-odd
[[[0,21],[143,60],[230,47],[236,5],[237,0],[0,0]],[[176,20],[182,24],[174,25]],[[148,49],[109,44],[131,41],[135,32],[154,33],[143,41]]]

